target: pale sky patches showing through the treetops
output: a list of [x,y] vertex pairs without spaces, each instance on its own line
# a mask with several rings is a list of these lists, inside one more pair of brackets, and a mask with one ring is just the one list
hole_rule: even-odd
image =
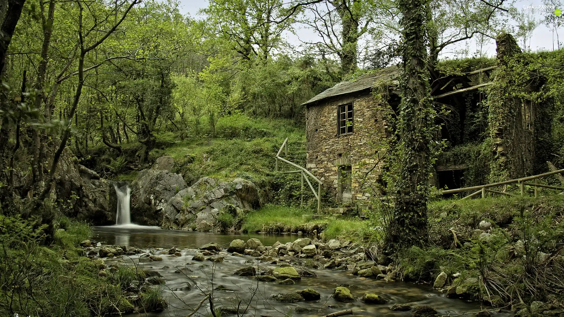
[[[201,17],[198,15],[198,11],[208,6],[208,0],[179,0],[179,1],[180,1],[180,12],[183,14],[190,14],[190,16],[196,18]],[[558,0],[556,0],[556,2],[558,2]],[[559,0],[559,2],[563,3],[562,0]],[[518,10],[523,10],[527,6],[541,6],[541,5],[544,5],[543,0],[515,0],[513,2],[513,6]],[[562,7],[561,10],[564,11],[564,7]],[[546,14],[545,12],[539,12],[537,10],[525,11],[525,13],[527,12],[528,12],[528,16],[531,19],[537,21],[544,19],[544,16]],[[553,14],[553,13],[549,13],[549,14]],[[564,19],[564,14],[562,14],[559,18]],[[514,24],[514,21],[510,23]],[[292,33],[286,34],[287,41],[296,46],[299,45],[300,40],[308,41],[308,42],[316,42],[318,39],[314,31],[307,28],[299,28],[298,32],[296,33],[298,33],[299,35],[296,36]],[[560,43],[563,43],[564,26],[558,28],[558,35],[559,35]],[[517,38],[517,41],[519,42],[519,45],[523,48],[524,46],[523,39]],[[527,40],[526,45],[527,48],[530,48],[531,51],[553,50],[553,47],[556,49],[557,48],[556,33],[550,30],[547,27],[547,25],[540,24],[533,30],[532,36]],[[359,46],[362,46],[362,43],[360,43]],[[443,55],[440,57],[442,58],[465,57],[465,56],[459,56],[459,54],[457,54],[457,51],[460,51],[461,49],[464,48],[467,48],[470,52],[479,50],[479,46],[475,42],[475,39],[470,39],[469,42],[462,42],[460,43],[460,45],[448,47],[448,50],[444,51]],[[486,56],[495,56],[495,49],[496,49],[495,41],[493,41],[492,39],[490,43],[488,43],[486,46],[482,48],[482,53],[483,55]]]

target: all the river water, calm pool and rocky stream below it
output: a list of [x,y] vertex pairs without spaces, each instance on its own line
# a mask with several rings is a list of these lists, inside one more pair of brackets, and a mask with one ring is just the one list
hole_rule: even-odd
[[[486,307],[476,302],[465,302],[446,298],[444,294],[433,290],[429,285],[412,283],[386,283],[381,280],[359,278],[350,274],[350,271],[309,269],[314,272],[315,278],[302,278],[293,285],[277,285],[272,282],[259,282],[250,277],[234,276],[237,269],[257,264],[259,266],[276,266],[259,262],[250,256],[231,256],[221,254],[224,257],[222,263],[209,261],[191,261],[199,246],[215,242],[218,244],[230,243],[233,239],[249,239],[256,237],[265,245],[272,245],[276,241],[286,243],[297,239],[298,235],[227,235],[208,234],[204,232],[188,232],[175,230],[161,230],[158,227],[142,226],[104,226],[94,227],[94,239],[104,244],[120,244],[136,246],[142,249],[155,249],[155,254],[162,257],[162,261],[139,263],[138,256],[123,257],[121,259],[108,259],[108,264],[125,261],[129,265],[138,265],[144,270],[156,270],[163,276],[166,284],[165,296],[170,306],[169,309],[148,316],[186,316],[196,307],[204,292],[216,288],[218,285],[232,289],[233,291],[214,291],[215,307],[237,307],[240,302],[240,310],[248,307],[245,316],[284,317],[284,316],[323,316],[331,312],[353,309],[355,316],[411,316],[410,311],[392,311],[389,309],[394,303],[409,303],[412,306],[430,305],[443,315],[459,315],[465,312],[476,312]],[[169,249],[177,247],[182,253],[180,257],[169,257],[160,253],[157,248]],[[279,262],[284,263],[284,262]],[[321,266],[323,267],[323,266]],[[188,268],[183,273],[175,272],[178,268]],[[368,305],[361,301],[353,303],[337,302],[331,298],[333,289],[337,285],[349,285],[354,296],[360,297],[364,293],[381,294],[389,298],[390,302],[382,305]],[[320,301],[308,301],[297,303],[279,303],[271,299],[274,294],[294,292],[305,288],[314,288],[321,294]],[[201,306],[201,316],[209,316],[209,303]],[[307,307],[318,311],[298,314],[296,307]],[[144,314],[143,314],[144,315]],[[503,312],[491,312],[492,316],[512,316],[513,314]],[[469,314],[466,316],[473,316]]]

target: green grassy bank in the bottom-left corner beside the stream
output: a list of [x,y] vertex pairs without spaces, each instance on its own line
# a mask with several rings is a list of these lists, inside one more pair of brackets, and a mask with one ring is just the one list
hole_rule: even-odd
[[87,224],[60,218],[56,228],[47,243],[45,226],[0,215],[0,316],[105,316],[162,305],[157,289],[128,299],[135,271],[107,270],[84,256],[78,246],[90,238]]

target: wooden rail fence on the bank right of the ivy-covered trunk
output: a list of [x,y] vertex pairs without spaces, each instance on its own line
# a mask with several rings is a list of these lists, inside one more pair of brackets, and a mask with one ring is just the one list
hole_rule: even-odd
[[[490,187],[495,187],[495,186],[501,186],[501,185],[507,185],[507,184],[518,183],[518,184],[519,184],[519,188],[521,189],[521,196],[525,196],[525,185],[528,185],[528,186],[534,186],[534,187],[535,187],[535,197],[539,197],[539,192],[538,192],[538,190],[537,190],[538,187],[550,188],[551,190],[561,190],[561,191],[564,191],[564,187],[558,187],[558,186],[552,186],[552,185],[544,185],[544,184],[539,184],[539,183],[537,183],[537,179],[539,179],[539,178],[547,177],[547,176],[554,175],[554,174],[562,174],[562,173],[564,173],[564,169],[555,170],[555,171],[550,171],[550,172],[548,172],[548,173],[539,174],[539,175],[533,175],[533,176],[528,176],[528,177],[523,177],[523,178],[505,180],[504,182],[491,183],[491,184],[479,185],[479,186],[472,186],[472,187],[456,188],[455,190],[446,190],[446,191],[442,191],[442,193],[445,194],[445,193],[456,193],[456,192],[467,192],[467,191],[478,190],[478,191],[475,191],[475,192],[471,193],[471,194],[468,195],[468,196],[462,197],[462,199],[466,199],[466,198],[473,197],[473,196],[475,196],[475,195],[478,195],[479,193],[482,193],[482,198],[484,198],[484,197],[486,197],[486,192],[499,193],[499,194],[502,194],[502,195],[509,195],[509,196],[519,196],[519,195],[515,195],[515,194],[513,194],[513,193],[508,193],[508,192],[502,192],[502,191],[496,191],[496,190],[490,190],[490,189],[488,189],[488,188],[490,188]],[[535,180],[535,182],[534,182],[534,183],[528,183],[528,182],[527,182],[528,180]]]

